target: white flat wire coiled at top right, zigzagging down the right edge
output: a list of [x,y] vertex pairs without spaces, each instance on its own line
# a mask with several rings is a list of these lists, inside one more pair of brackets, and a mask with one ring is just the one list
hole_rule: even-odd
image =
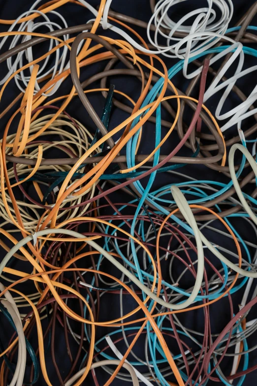
[[[87,8],[96,16],[97,11],[85,0],[79,0],[82,4],[87,6]],[[189,12],[187,15],[183,16],[177,23],[173,22],[168,16],[167,12],[177,3],[184,3],[186,0],[160,0],[155,6],[155,12],[151,17],[148,27],[147,35],[149,41],[154,45],[157,50],[148,50],[140,46],[133,38],[131,38],[125,31],[119,27],[113,26],[107,22],[108,10],[111,5],[111,0],[106,1],[106,5],[103,11],[103,17],[100,23],[104,29],[109,28],[113,32],[121,35],[125,40],[127,40],[133,47],[141,50],[145,53],[151,54],[162,54],[171,58],[180,58],[184,59],[183,64],[183,74],[187,79],[192,79],[202,70],[202,67],[194,70],[192,73],[188,73],[188,64],[189,59],[193,56],[203,53],[207,49],[213,47],[221,38],[227,40],[231,45],[223,50],[222,52],[214,55],[210,60],[210,65],[217,62],[221,58],[225,57],[228,53],[232,53],[231,57],[226,61],[222,70],[215,77],[215,80],[212,82],[208,90],[206,90],[204,95],[204,103],[215,93],[225,88],[225,91],[220,98],[220,102],[216,108],[215,116],[218,120],[224,120],[230,118],[224,126],[221,127],[221,130],[224,132],[231,126],[237,124],[238,128],[241,128],[241,122],[243,119],[252,116],[257,112],[257,109],[248,111],[249,107],[257,100],[257,86],[254,84],[253,91],[247,98],[247,100],[240,105],[232,108],[224,114],[221,114],[223,106],[225,105],[226,98],[231,92],[235,82],[242,76],[248,75],[251,72],[256,70],[256,66],[248,68],[242,71],[244,65],[244,53],[243,45],[240,42],[236,42],[232,38],[225,36],[225,31],[227,30],[228,24],[231,20],[233,14],[233,3],[231,0],[207,0],[207,8],[199,8],[192,12]],[[216,6],[221,11],[220,19],[216,21],[216,12],[213,9],[213,6]],[[191,26],[184,25],[187,19],[194,17]],[[156,27],[154,39],[150,36],[150,26],[154,22]],[[169,29],[170,32],[168,35],[163,33],[160,28]],[[174,37],[175,32],[184,32],[188,35],[185,37]],[[167,39],[166,46],[160,46],[158,44],[158,35],[165,37]],[[174,40],[174,44],[171,43],[171,40]],[[183,46],[185,46],[183,48]],[[237,68],[234,72],[234,75],[229,77],[225,82],[220,81],[225,75],[227,70],[232,66],[235,60],[239,58]]]

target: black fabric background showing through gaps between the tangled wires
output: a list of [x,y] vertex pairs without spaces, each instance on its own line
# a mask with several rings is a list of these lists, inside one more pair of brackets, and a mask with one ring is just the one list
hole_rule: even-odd
[[[89,2],[93,6],[97,6],[99,4],[99,0],[89,0]],[[29,7],[32,5],[33,1],[17,1],[17,0],[1,0],[0,1],[0,18],[1,19],[14,19],[18,15],[20,15],[22,12],[26,11],[29,9]],[[234,4],[234,15],[232,18],[232,22],[230,26],[233,26],[241,17],[242,15],[247,11],[247,9],[251,6],[253,3],[252,0],[248,1],[243,1],[243,0],[233,0]],[[187,12],[190,11],[191,9],[195,9],[196,7],[200,6],[206,6],[205,1],[187,1],[185,4],[187,6]],[[183,5],[184,6],[184,5]],[[182,5],[178,5],[174,8],[174,18],[179,18],[181,15],[184,14]],[[117,12],[121,12],[124,14],[127,14],[132,17],[136,17],[138,19],[141,19],[143,21],[148,21],[152,15],[149,1],[147,0],[129,0],[129,1],[119,1],[119,0],[113,0],[111,8]],[[76,25],[76,24],[83,24],[86,23],[89,19],[92,18],[92,14],[86,10],[85,8],[82,8],[80,6],[77,6],[75,4],[66,4],[60,9],[62,15],[65,17],[68,26]],[[254,21],[251,23],[253,25],[256,25],[256,18]],[[133,27],[133,26],[132,26]],[[146,31],[143,28],[140,27],[133,27],[146,41],[147,41],[147,36],[146,36]],[[6,31],[6,26],[0,26],[0,31]],[[110,33],[109,31],[102,31],[102,29],[99,29],[99,35],[109,35],[112,37],[118,37],[117,35],[114,35],[113,33]],[[7,47],[5,45],[5,47]],[[46,46],[45,46],[46,48]],[[7,48],[6,48],[7,49]],[[37,53],[38,47],[34,49],[33,52]],[[40,48],[39,52],[43,51],[43,47]],[[45,51],[44,51],[45,52]],[[42,53],[40,53],[42,54]],[[163,57],[162,57],[163,59]],[[176,60],[174,59],[168,59],[164,58],[163,59],[167,68],[170,68],[176,63]],[[105,63],[99,63],[94,66],[88,66],[87,68],[84,68],[81,70],[81,76],[80,79],[81,81],[87,79],[89,76],[92,74],[101,71],[104,69]],[[255,65],[256,61],[252,57],[247,57],[246,58],[246,65],[245,66],[252,66]],[[120,65],[119,65],[120,66]],[[5,74],[6,66],[5,64],[0,65],[0,72]],[[242,88],[242,90],[245,92],[246,95],[249,95],[250,92],[252,91],[254,85],[256,84],[256,75],[253,73],[251,76],[245,77],[241,81],[238,82],[239,87]],[[174,79],[174,84],[181,90],[185,91],[186,86],[188,82],[183,78],[182,74],[178,74]],[[108,84],[110,82],[110,79],[108,79]],[[128,95],[132,96],[134,100],[138,98],[140,95],[140,88],[141,85],[138,80],[128,78],[128,77],[122,77],[122,76],[117,76],[115,78],[111,79],[111,82],[115,84],[116,89],[125,91],[128,93]],[[207,83],[210,82],[210,79],[208,78]],[[65,80],[63,85],[61,86],[60,90],[57,93],[57,96],[60,94],[67,94],[71,88],[71,79],[68,78]],[[94,86],[99,87],[99,82],[96,82]],[[197,90],[195,91],[197,96]],[[0,101],[0,111],[2,111],[18,94],[18,89],[12,81],[7,89],[5,90],[3,94],[3,98]],[[208,101],[207,106],[211,109],[211,111],[214,113],[216,105],[218,104],[218,98],[219,95],[216,95],[214,98],[210,99]],[[120,98],[120,100],[122,100]],[[104,99],[100,95],[100,93],[94,94],[90,96],[90,101],[94,105],[97,113],[100,115],[102,107],[104,105]],[[226,107],[229,108],[229,106],[235,106],[238,104],[239,101],[235,95],[231,95],[231,98],[229,98],[229,101],[226,104]],[[175,105],[174,105],[175,106]],[[76,98],[73,100],[70,105],[67,108],[67,112],[74,118],[80,120],[87,128],[89,128],[92,132],[95,132],[96,128],[93,123],[93,121],[90,119],[88,113],[85,111],[83,105],[81,104],[80,100]],[[2,132],[4,130],[4,127],[7,123],[7,120],[10,116],[10,113],[8,113],[4,118],[1,119],[0,121],[0,132],[2,135]],[[110,128],[115,127],[118,123],[120,123],[122,120],[127,118],[128,114],[124,113],[121,110],[118,110],[117,108],[113,108],[112,110],[112,116],[110,120]],[[167,116],[166,112],[163,110],[162,111],[162,117],[164,119],[170,119],[170,117]],[[192,111],[188,108],[186,108],[186,114],[185,114],[185,119],[186,121],[190,122],[190,119],[192,117]],[[242,125],[243,129],[246,129],[250,127],[253,123],[253,119],[250,118],[248,121],[244,122]],[[166,133],[166,128],[163,128],[163,133]],[[206,130],[206,129],[205,129]],[[154,145],[154,140],[155,140],[155,126],[151,123],[147,123],[144,127],[144,135],[143,135],[143,141],[142,145],[140,146],[140,151],[139,153],[141,154],[146,154],[149,152],[149,148],[152,148]],[[15,125],[12,125],[11,132],[15,132]],[[225,136],[232,137],[237,134],[236,128],[231,128],[229,131],[225,134]],[[164,134],[163,134],[164,135]],[[254,137],[253,137],[254,138]],[[170,151],[170,148],[174,147],[176,143],[178,142],[178,137],[177,134],[174,133],[172,137],[165,143],[163,148],[161,148],[161,154],[167,154]],[[189,149],[183,149],[180,154],[183,155],[188,155],[191,154]],[[47,157],[54,156],[51,153],[47,154]],[[239,157],[239,162],[240,162],[240,157]],[[182,173],[187,173],[188,175],[191,175],[196,178],[208,178],[208,179],[215,179],[215,180],[220,180],[223,182],[228,182],[228,179],[222,175],[221,173],[214,172],[211,169],[207,169],[204,166],[188,166],[184,169],[180,170]],[[157,175],[154,187],[160,187],[163,184],[168,184],[172,182],[179,182],[180,179],[179,177],[172,176],[170,174],[159,174]],[[143,181],[143,183],[146,183],[146,181]],[[246,191],[251,193],[254,190],[253,186],[247,187]],[[125,196],[124,193],[117,192],[111,196],[112,200],[114,203],[118,202],[125,202],[129,201],[130,197]],[[256,236],[252,230],[252,228],[247,225],[246,222],[240,219],[232,219],[231,220],[232,224],[236,227],[237,230],[240,230],[242,236],[248,240],[252,241],[253,243],[256,243]],[[217,225],[218,226],[218,225]],[[208,233],[207,233],[208,235]],[[208,235],[210,238],[212,237],[212,234],[209,233]],[[226,247],[231,247],[232,250],[235,249],[234,245],[232,242],[230,242],[228,246],[228,241],[226,239],[223,239],[223,237],[215,236],[216,237],[216,242],[217,244],[224,245]],[[4,251],[1,251],[1,255],[4,256]],[[252,255],[254,255],[255,250],[252,248],[250,249],[250,252]],[[219,262],[217,262],[217,259],[214,259],[213,256],[209,256],[207,253],[207,256],[215,262],[217,267],[220,267]],[[14,263],[13,267],[19,267],[21,268],[20,263]],[[28,268],[28,265],[26,266]],[[24,266],[23,266],[23,268]],[[112,269],[111,267],[106,267],[108,272],[117,274],[119,277],[119,274],[116,272],[115,269]],[[29,268],[28,268],[29,270]],[[164,276],[165,276],[165,267],[163,269]],[[191,283],[192,284],[192,283]],[[256,284],[256,281],[254,282],[254,285]],[[187,284],[186,284],[187,285]],[[254,287],[253,285],[253,287]],[[181,287],[183,287],[183,283],[181,284]],[[24,283],[22,285],[19,285],[19,289],[23,290],[24,293],[29,293],[30,291],[30,284]],[[240,303],[240,300],[242,298],[243,290],[241,289],[238,291],[236,294],[232,295],[232,300],[233,300],[233,305],[234,305],[234,313],[236,314],[238,312],[238,304]],[[129,296],[126,298],[125,302],[125,312],[128,312],[132,308],[135,307],[135,304],[133,300]],[[119,316],[119,296],[118,295],[105,295],[102,298],[101,301],[101,318],[102,320],[108,320],[108,319],[113,319],[115,316]],[[225,327],[226,323],[230,320],[230,315],[229,315],[229,307],[228,307],[228,301],[227,298],[222,299],[219,301],[217,304],[213,305],[210,307],[210,316],[211,316],[211,327],[212,327],[212,332],[213,333],[218,333],[221,332],[222,329]],[[193,328],[197,331],[203,331],[203,314],[201,311],[197,313],[186,313],[186,314],[181,314],[180,320],[184,323],[185,326]],[[254,308],[251,313],[249,314],[249,320],[257,317],[257,311],[256,308]],[[46,321],[43,322],[43,326],[46,327]],[[80,332],[80,327],[78,324],[74,323],[73,324],[75,332]],[[2,316],[0,316],[0,328],[1,328],[1,333],[0,333],[0,339],[2,340],[2,343],[4,344],[4,347],[6,347],[7,344],[7,337],[12,334],[12,331],[8,331],[8,325],[6,325],[4,319]],[[97,338],[100,336],[104,335],[107,331],[110,331],[111,329],[107,328],[98,328],[96,332]],[[36,342],[36,333],[34,331],[34,335],[31,338],[32,344],[35,344]],[[174,348],[174,341],[172,342],[171,340],[167,339],[167,344],[172,352],[177,352],[177,348]],[[249,340],[248,340],[249,348],[257,344],[257,334],[252,335]],[[56,333],[56,358],[57,358],[57,363],[59,365],[61,374],[64,376],[67,373],[67,369],[69,368],[69,361],[67,359],[66,355],[66,347],[65,347],[65,341],[64,341],[64,335],[62,332],[62,329],[60,328],[59,324],[57,323],[57,333]],[[70,337],[70,345],[72,347],[73,351],[73,356],[75,356],[76,349],[77,349],[77,344],[73,341],[73,339]],[[103,347],[103,346],[102,346]],[[119,348],[120,351],[125,352],[126,347],[125,345],[118,344],[117,347]],[[109,354],[111,354],[111,351],[107,351]],[[138,343],[135,346],[134,352],[139,355],[141,358],[144,357],[144,337],[140,338]],[[133,360],[132,357],[129,357],[130,360]],[[257,360],[257,353],[256,351],[250,353],[250,363],[249,366],[252,366],[256,363]],[[59,385],[58,377],[56,375],[56,372],[53,368],[52,361],[51,361],[51,351],[48,350],[46,351],[46,363],[47,363],[47,369],[49,373],[49,378],[54,386]],[[224,359],[223,364],[222,364],[222,369],[225,372],[225,374],[228,374],[228,371],[230,371],[232,359],[227,359],[227,357]],[[242,361],[241,361],[242,364]],[[229,370],[226,370],[226,369]],[[241,365],[240,365],[241,369]],[[97,379],[99,382],[99,385],[103,385],[104,382],[108,379],[108,375],[101,369],[96,370],[97,374]],[[256,385],[256,372],[251,373],[247,375],[244,384],[243,385]],[[28,373],[26,372],[26,375]],[[26,378],[28,379],[28,378]],[[170,378],[172,379],[172,377]],[[234,381],[233,385],[236,385],[238,381]],[[119,381],[118,379],[113,382],[114,386],[122,385],[123,381]],[[209,382],[208,385],[222,385],[222,383],[213,383]],[[40,376],[38,382],[36,385],[45,385],[45,382]],[[83,385],[94,385],[93,379],[91,378],[91,375],[87,378],[87,380],[84,382]]]

